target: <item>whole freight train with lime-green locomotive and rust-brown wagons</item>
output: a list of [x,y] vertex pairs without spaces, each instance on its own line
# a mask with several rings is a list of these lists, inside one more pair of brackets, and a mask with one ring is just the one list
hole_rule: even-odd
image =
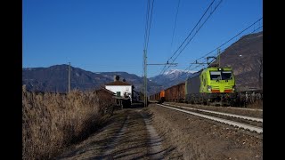
[[194,73],[185,82],[153,94],[150,100],[191,104],[234,106],[235,78],[230,67],[209,67]]

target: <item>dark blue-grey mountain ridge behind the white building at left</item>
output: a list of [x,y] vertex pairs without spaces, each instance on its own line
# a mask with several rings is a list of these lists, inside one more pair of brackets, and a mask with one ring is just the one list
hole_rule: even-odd
[[[26,85],[29,91],[41,92],[68,92],[68,70],[69,65],[53,65],[48,68],[22,68],[22,84]],[[91,72],[81,68],[70,67],[71,89],[92,90],[98,89],[104,84],[114,81],[114,76],[120,76],[120,80],[134,85],[136,92],[142,91],[143,79],[140,76],[127,72]],[[154,93],[162,87],[148,81],[149,93]]]

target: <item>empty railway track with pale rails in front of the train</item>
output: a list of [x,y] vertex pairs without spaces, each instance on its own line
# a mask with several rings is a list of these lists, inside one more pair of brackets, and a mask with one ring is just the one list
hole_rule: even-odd
[[249,116],[238,116],[238,115],[233,115],[233,114],[225,114],[225,113],[222,113],[222,112],[216,112],[216,111],[209,111],[209,110],[204,110],[204,109],[192,108],[192,110],[195,109],[195,111],[199,110],[200,113],[196,113],[196,112],[188,110],[188,109],[191,109],[191,108],[187,108],[186,109],[186,107],[179,107],[179,106],[176,106],[176,107],[171,106],[170,107],[170,106],[161,105],[161,104],[158,104],[158,105],[163,107],[163,108],[174,109],[174,110],[177,110],[177,111],[180,111],[180,112],[183,112],[183,113],[187,113],[187,114],[191,114],[191,115],[194,115],[194,116],[207,118],[207,119],[210,119],[210,120],[213,120],[213,121],[216,121],[216,122],[220,122],[220,123],[223,123],[223,124],[237,126],[239,128],[243,128],[243,129],[249,130],[251,132],[257,132],[257,133],[262,133],[263,132],[263,128],[262,127],[257,127],[257,126],[249,125],[249,124],[243,124],[243,123],[240,123],[240,122],[235,122],[235,121],[232,121],[232,120],[228,120],[228,119],[224,119],[224,118],[220,118],[220,117],[216,117],[216,116],[208,116],[206,114],[203,114],[203,112],[204,113],[212,112],[212,114],[217,114],[217,115],[222,115],[223,114],[223,116],[235,116],[235,117],[239,117],[241,119],[246,119],[246,120],[250,119],[250,120],[256,121],[256,122],[262,122],[262,118],[249,117]]

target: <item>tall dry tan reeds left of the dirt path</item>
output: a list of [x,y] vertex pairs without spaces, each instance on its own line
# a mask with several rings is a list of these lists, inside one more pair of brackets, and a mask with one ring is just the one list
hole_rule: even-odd
[[22,158],[50,159],[103,123],[113,101],[94,92],[22,92]]

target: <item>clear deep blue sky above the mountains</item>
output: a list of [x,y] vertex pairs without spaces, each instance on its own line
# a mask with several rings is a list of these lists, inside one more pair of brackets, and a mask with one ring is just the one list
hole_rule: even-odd
[[[154,0],[148,63],[166,63],[211,2],[180,0],[171,45],[178,0]],[[92,72],[142,76],[146,6],[147,0],[23,0],[23,68],[71,62]],[[262,17],[261,0],[224,0],[171,68],[187,68]],[[159,75],[162,67],[149,66],[148,76]]]

